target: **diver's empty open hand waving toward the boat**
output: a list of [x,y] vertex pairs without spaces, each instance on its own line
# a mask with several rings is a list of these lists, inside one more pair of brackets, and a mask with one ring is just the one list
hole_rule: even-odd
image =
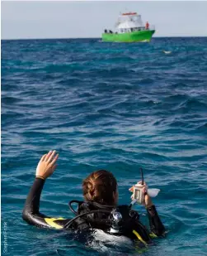
[[58,158],[59,154],[57,154],[55,150],[49,151],[47,154],[41,157],[40,162],[36,167],[36,176],[46,179],[52,175],[57,167],[56,162]]

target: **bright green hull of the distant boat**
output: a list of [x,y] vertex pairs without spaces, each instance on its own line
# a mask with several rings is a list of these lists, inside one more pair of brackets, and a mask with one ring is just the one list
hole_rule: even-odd
[[115,41],[115,42],[136,42],[136,41],[150,41],[154,30],[134,31],[122,34],[103,33],[102,41]]

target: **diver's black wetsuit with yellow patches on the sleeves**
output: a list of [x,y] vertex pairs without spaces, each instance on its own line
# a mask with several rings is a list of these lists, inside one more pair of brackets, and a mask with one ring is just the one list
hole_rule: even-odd
[[[26,198],[26,204],[22,213],[23,220],[26,220],[30,225],[36,225],[38,227],[46,228],[46,229],[64,229],[64,225],[68,223],[69,219],[64,218],[53,218],[47,215],[43,215],[40,213],[40,195],[43,189],[45,181],[39,177],[35,178],[33,186],[31,186],[31,190]],[[157,210],[155,206],[148,207],[148,220],[150,225],[150,231],[146,229],[139,221],[139,218],[129,218],[129,208],[127,205],[118,206],[121,214],[123,215],[124,220],[126,220],[127,224],[125,225],[124,235],[128,236],[131,239],[139,239],[143,240],[147,244],[150,243],[151,238],[154,236],[162,236],[164,234],[165,228],[162,225],[161,220],[159,219]],[[86,211],[94,210],[87,203],[82,203],[78,207],[78,214],[82,214]],[[135,212],[135,211],[134,211]],[[96,214],[95,214],[96,215]],[[104,224],[104,222],[99,222],[97,220],[104,219],[107,215],[96,215],[95,221],[94,216],[92,222],[86,221],[84,218],[78,218],[73,222],[73,225],[70,226],[70,229],[86,229],[86,228],[97,228],[107,231],[109,227]],[[138,214],[137,214],[138,215]],[[88,220],[88,219],[87,219]],[[133,220],[133,221],[132,221]],[[144,244],[144,243],[143,243]]]

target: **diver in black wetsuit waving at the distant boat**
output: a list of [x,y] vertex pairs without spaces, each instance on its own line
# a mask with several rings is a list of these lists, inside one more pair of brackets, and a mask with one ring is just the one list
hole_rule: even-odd
[[[35,181],[26,198],[22,213],[23,220],[30,225],[46,229],[92,230],[102,229],[108,234],[125,235],[139,240],[142,246],[152,243],[153,237],[163,236],[165,228],[158,216],[151,198],[147,194],[146,184],[143,186],[143,204],[148,212],[150,230],[139,221],[139,213],[131,209],[131,205],[117,205],[118,188],[111,172],[100,170],[92,172],[82,182],[84,201],[72,200],[70,209],[76,215],[73,219],[54,218],[41,214],[40,195],[45,180],[57,167],[59,154],[50,151],[41,157],[36,168]],[[129,191],[132,191],[130,188]],[[78,204],[74,210],[73,203]]]

